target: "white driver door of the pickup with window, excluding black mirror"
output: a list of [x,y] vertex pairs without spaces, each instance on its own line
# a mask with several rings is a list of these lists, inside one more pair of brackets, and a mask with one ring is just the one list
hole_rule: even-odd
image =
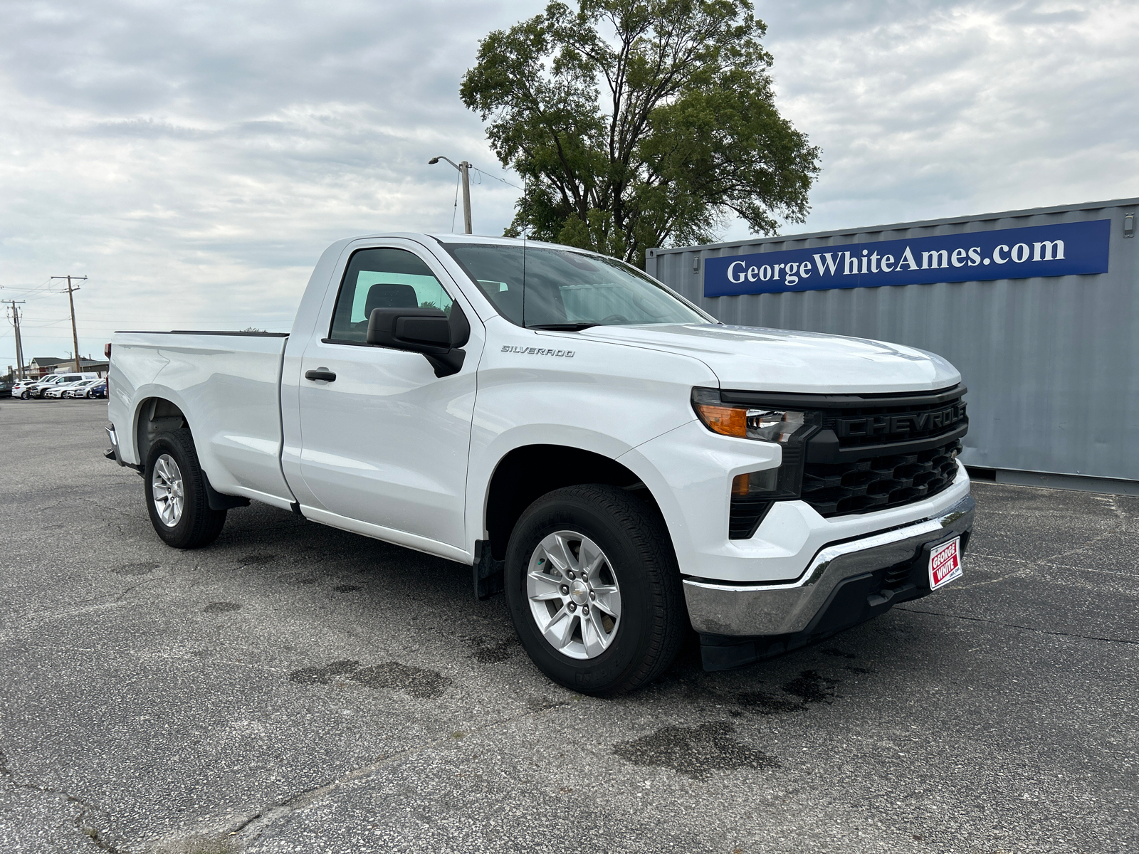
[[[469,550],[464,509],[481,323],[466,312],[467,355],[449,377],[437,378],[419,353],[366,343],[372,309],[450,314],[443,281],[453,288],[426,252],[380,246],[352,254],[330,320],[326,303],[301,359],[301,474],[330,512]],[[308,379],[310,371],[335,378]]]

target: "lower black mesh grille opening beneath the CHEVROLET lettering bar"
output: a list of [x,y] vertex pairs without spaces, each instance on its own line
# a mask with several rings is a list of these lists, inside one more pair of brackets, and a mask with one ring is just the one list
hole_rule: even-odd
[[894,453],[849,462],[808,462],[803,501],[820,516],[885,510],[935,495],[957,477],[961,443],[913,453]]

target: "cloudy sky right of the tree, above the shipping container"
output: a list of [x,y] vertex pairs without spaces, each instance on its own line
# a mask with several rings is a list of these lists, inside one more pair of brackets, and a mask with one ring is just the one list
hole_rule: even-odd
[[823,149],[812,214],[785,232],[1139,195],[1132,3],[757,13],[780,109]]

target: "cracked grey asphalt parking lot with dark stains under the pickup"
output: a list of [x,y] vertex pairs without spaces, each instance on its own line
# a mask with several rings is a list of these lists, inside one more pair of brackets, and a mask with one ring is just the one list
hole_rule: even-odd
[[180,552],[106,405],[2,401],[0,851],[1139,849],[1139,500],[977,484],[966,575],[637,695],[468,567],[253,506]]

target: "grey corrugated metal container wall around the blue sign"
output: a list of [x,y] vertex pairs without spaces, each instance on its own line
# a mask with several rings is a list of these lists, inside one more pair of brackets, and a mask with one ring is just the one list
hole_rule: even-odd
[[[647,269],[727,323],[908,344],[969,388],[968,466],[1139,481],[1139,199],[653,249]],[[705,298],[704,257],[1112,220],[1109,271]],[[696,256],[699,270],[693,270]]]

